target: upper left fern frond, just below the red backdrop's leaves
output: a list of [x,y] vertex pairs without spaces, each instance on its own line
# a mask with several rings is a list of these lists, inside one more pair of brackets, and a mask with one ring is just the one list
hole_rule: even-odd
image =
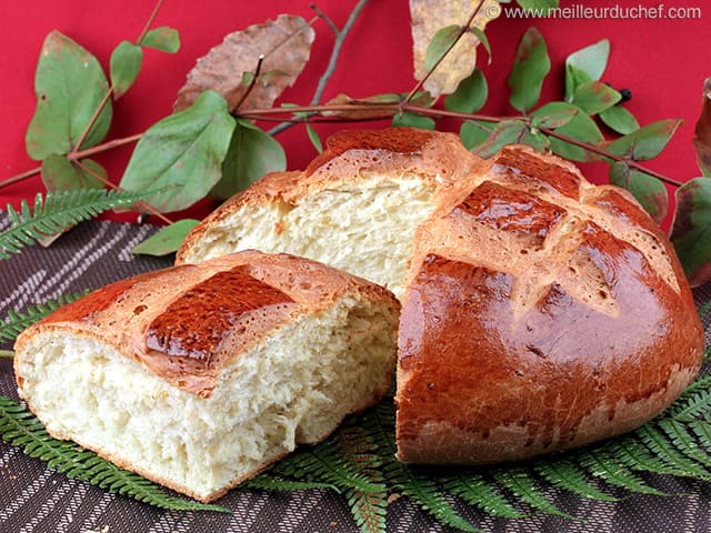
[[0,233],[0,259],[34,243],[39,239],[60,233],[66,228],[89,220],[98,214],[118,208],[127,208],[141,200],[148,200],[156,191],[109,191],[106,189],[78,189],[38,193],[30,208],[22,200],[20,213],[8,204],[11,227]]

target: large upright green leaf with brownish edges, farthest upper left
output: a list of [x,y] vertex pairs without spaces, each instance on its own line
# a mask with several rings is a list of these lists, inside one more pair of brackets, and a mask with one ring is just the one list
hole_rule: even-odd
[[[97,58],[58,31],[47,36],[34,74],[37,108],[24,139],[30,158],[41,161],[52,153],[69,153],[78,148],[77,142],[108,90]],[[111,115],[108,101],[80,148],[103,140]]]

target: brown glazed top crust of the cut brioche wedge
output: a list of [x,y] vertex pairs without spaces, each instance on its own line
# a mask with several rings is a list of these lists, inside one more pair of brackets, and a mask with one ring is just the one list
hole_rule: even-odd
[[67,331],[106,342],[169,383],[209,396],[218,372],[271,330],[351,291],[399,308],[385,289],[321,263],[243,251],[99,289],[29,328],[16,351],[34,334]]

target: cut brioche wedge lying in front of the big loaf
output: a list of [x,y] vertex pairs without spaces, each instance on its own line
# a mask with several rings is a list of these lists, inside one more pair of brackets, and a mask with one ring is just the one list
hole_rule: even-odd
[[312,261],[242,252],[100,289],[23,332],[50,434],[208,502],[381,399],[399,304]]

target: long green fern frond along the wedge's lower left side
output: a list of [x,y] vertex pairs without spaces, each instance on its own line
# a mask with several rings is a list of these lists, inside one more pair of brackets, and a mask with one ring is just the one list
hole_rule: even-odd
[[0,395],[0,438],[10,445],[22,447],[29,456],[47,462],[50,469],[68,477],[86,481],[139,502],[176,511],[230,512],[221,505],[171,496],[147,479],[119,469],[73,442],[52,438],[32,413],[12,399],[2,395]]

